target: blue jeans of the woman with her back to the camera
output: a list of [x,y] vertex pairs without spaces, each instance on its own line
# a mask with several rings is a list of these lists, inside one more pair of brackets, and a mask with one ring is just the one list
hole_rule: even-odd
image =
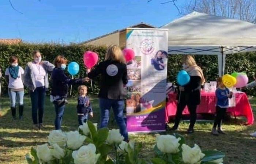
[[109,110],[111,107],[113,108],[120,134],[124,137],[124,140],[128,140],[128,132],[123,118],[124,100],[99,98],[99,108],[101,109],[101,123],[99,128],[106,128],[108,126]]

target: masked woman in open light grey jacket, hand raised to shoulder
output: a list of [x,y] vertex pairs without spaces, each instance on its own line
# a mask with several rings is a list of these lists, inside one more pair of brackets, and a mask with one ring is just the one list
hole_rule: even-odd
[[[49,87],[48,73],[52,72],[54,65],[48,61],[42,61],[39,51],[33,51],[33,62],[27,63],[24,73],[24,85],[29,89],[32,104],[32,120],[34,129],[44,128],[43,115],[45,103],[45,91]],[[38,109],[38,120],[37,120]]]

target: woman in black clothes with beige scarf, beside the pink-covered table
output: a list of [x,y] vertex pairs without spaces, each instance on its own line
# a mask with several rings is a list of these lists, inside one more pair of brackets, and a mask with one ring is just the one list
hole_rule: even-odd
[[204,84],[205,79],[202,69],[196,65],[195,59],[191,55],[185,55],[182,58],[182,67],[190,76],[190,81],[187,85],[179,87],[178,89],[178,104],[175,116],[174,126],[170,130],[177,130],[180,123],[182,112],[185,106],[188,106],[190,113],[190,124],[188,133],[194,132],[194,125],[196,122],[196,108],[200,104],[200,90]]

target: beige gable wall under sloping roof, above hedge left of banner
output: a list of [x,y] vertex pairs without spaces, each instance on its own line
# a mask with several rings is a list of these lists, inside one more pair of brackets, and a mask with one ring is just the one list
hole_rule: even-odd
[[102,38],[92,40],[91,42],[84,43],[84,45],[93,45],[93,46],[109,46],[111,44],[116,44],[119,46],[119,32],[103,36]]

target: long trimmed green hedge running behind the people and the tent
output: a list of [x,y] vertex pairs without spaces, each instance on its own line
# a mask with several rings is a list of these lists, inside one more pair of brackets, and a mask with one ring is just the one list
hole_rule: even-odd
[[[4,75],[5,69],[8,67],[8,58],[12,55],[19,57],[19,65],[25,68],[27,62],[32,61],[31,52],[33,50],[39,50],[42,53],[43,60],[53,62],[53,59],[57,55],[65,56],[69,62],[75,61],[80,65],[80,72],[75,78],[83,78],[85,76],[85,67],[83,66],[83,53],[85,51],[94,51],[99,54],[99,59],[102,61],[105,57],[106,47],[99,46],[83,46],[79,44],[72,45],[59,45],[59,44],[15,44],[5,45],[0,44],[0,66],[2,68],[2,74]],[[181,58],[182,55],[169,55],[168,56],[168,71],[167,80],[169,82],[176,82],[176,75],[181,70]],[[204,75],[207,81],[215,81],[218,77],[218,59],[217,55],[195,55],[196,62],[202,67]],[[253,79],[253,75],[256,71],[256,52],[245,52],[234,55],[226,56],[226,68],[225,73],[246,72],[249,79]],[[68,74],[68,73],[67,73]],[[91,94],[97,94],[99,91],[100,78],[93,80],[94,90],[91,91],[90,83],[87,83],[89,92]],[[7,84],[4,79],[1,78],[2,93],[7,94]],[[77,94],[77,87],[72,89],[72,95]],[[27,90],[26,90],[27,93]],[[255,89],[248,90],[249,94],[256,95]],[[48,92],[49,94],[49,92]]]

